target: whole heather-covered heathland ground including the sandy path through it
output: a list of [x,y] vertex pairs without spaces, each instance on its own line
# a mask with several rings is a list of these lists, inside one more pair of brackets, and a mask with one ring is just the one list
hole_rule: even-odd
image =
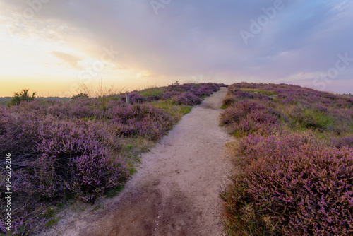
[[[129,93],[130,104],[122,94],[17,96],[0,107],[0,154],[12,168],[11,232],[3,207],[0,230],[352,235],[353,97],[220,87],[176,83]],[[4,167],[2,158],[1,206]],[[77,202],[89,210],[70,213]]]

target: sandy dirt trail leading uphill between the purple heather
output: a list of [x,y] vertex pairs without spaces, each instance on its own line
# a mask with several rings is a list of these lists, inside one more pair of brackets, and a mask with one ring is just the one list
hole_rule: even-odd
[[41,235],[225,235],[218,191],[230,164],[218,126],[227,88],[221,88],[145,153],[138,172],[106,208],[66,213]]

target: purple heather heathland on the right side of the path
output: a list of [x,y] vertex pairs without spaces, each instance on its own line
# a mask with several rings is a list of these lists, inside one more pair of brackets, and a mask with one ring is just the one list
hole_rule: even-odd
[[220,123],[237,173],[222,192],[229,235],[353,234],[353,97],[235,83]]

